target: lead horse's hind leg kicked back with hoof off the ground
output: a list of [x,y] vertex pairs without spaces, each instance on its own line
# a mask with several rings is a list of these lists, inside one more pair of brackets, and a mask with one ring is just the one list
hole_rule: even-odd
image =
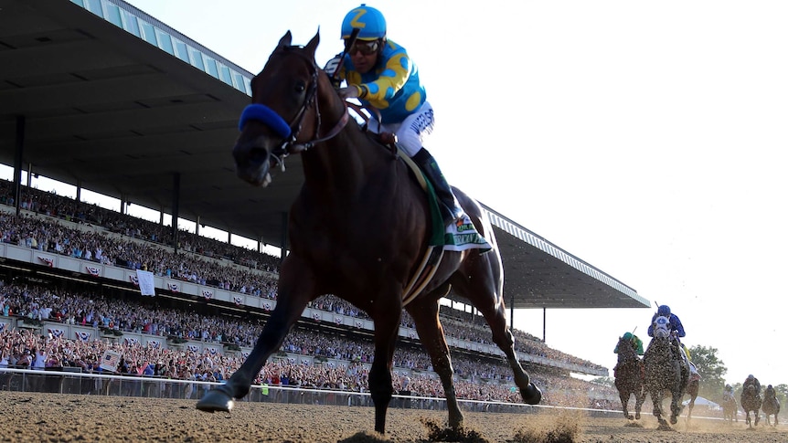
[[485,316],[485,321],[493,332],[493,342],[506,354],[506,361],[512,368],[515,384],[520,388],[523,401],[528,405],[538,405],[542,392],[537,385],[531,383],[530,377],[517,360],[515,339],[506,326],[502,272],[500,257],[490,251],[466,258],[450,281],[454,290],[470,300]]

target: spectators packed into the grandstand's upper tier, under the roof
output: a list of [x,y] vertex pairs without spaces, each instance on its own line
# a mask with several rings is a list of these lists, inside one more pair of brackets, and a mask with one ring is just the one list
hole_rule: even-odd
[[[10,195],[10,183],[0,181],[0,204],[13,203]],[[213,286],[225,290],[233,290],[242,294],[276,299],[275,272],[278,272],[276,258],[268,254],[254,253],[245,248],[232,246],[215,239],[197,237],[192,233],[183,231],[184,238],[192,238],[193,242],[200,245],[194,249],[186,243],[186,249],[196,250],[205,255],[176,253],[172,248],[165,248],[166,242],[155,243],[154,240],[165,238],[165,233],[171,231],[161,225],[140,218],[122,215],[101,208],[78,203],[73,199],[59,195],[44,193],[36,189],[23,189],[21,206],[27,210],[37,212],[38,215],[15,216],[0,210],[0,241],[37,248],[48,252],[55,252],[69,257],[82,258],[122,266],[129,269],[151,270],[154,274],[186,280],[206,286]],[[45,216],[40,216],[45,215]],[[53,216],[63,216],[63,219],[87,223],[107,223],[108,231],[97,231],[83,228],[80,225],[67,227],[60,224]],[[122,231],[122,232],[121,232]],[[139,241],[144,239],[145,241]],[[228,266],[221,260],[213,259],[222,257],[256,258],[256,264],[264,263],[269,271],[261,272],[252,268],[237,268]],[[316,301],[314,307],[325,311],[334,311],[342,315],[368,319],[366,312],[358,310],[352,304],[336,297],[326,297]],[[463,312],[447,310],[452,318],[462,317]],[[443,316],[446,318],[446,316]],[[480,317],[472,315],[471,325],[466,319],[460,318],[447,328],[446,336],[474,343],[491,343],[491,333],[486,323]],[[449,322],[449,321],[447,321]],[[473,324],[473,323],[478,324]],[[412,320],[407,313],[403,313],[402,326],[413,328]],[[549,348],[537,337],[513,329],[515,335],[515,349],[518,353],[538,355],[550,360],[578,364],[594,369],[602,369],[601,365],[592,364],[568,353]]]

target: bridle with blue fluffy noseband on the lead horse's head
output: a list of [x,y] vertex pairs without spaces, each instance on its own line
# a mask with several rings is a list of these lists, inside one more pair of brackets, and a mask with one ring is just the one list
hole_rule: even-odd
[[[238,124],[239,131],[243,131],[243,127],[248,121],[260,121],[269,126],[273,132],[282,137],[282,144],[272,149],[271,155],[277,164],[281,164],[282,171],[284,171],[284,159],[293,153],[303,153],[311,149],[315,144],[325,142],[334,138],[346,126],[347,121],[350,120],[350,114],[347,111],[347,104],[342,100],[344,111],[339,121],[336,121],[333,128],[326,132],[323,137],[319,137],[320,126],[322,123],[320,108],[318,106],[317,98],[317,85],[318,85],[318,72],[320,69],[314,64],[314,59],[307,58],[301,52],[292,51],[294,46],[281,47],[280,50],[275,51],[271,58],[276,56],[296,55],[303,58],[311,70],[311,79],[306,88],[306,97],[303,100],[301,109],[296,112],[293,120],[288,123],[285,121],[278,112],[273,111],[270,107],[261,103],[252,103],[248,105],[240,114],[240,121]],[[269,59],[271,59],[269,58]],[[306,111],[314,106],[314,139],[309,142],[297,142],[298,135],[303,129],[303,119],[306,116]]]

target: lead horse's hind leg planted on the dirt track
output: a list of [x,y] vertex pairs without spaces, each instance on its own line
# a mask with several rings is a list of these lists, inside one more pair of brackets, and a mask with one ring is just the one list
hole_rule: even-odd
[[449,427],[457,429],[463,424],[463,412],[460,410],[454,391],[452,356],[438,317],[438,303],[431,297],[423,297],[411,302],[405,309],[413,317],[421,344],[430,354],[432,369],[441,377],[446,407],[449,411]]

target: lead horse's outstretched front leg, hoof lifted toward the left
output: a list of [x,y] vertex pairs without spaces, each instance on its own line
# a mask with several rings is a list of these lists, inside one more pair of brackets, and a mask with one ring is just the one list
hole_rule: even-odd
[[205,412],[229,412],[235,398],[242,398],[249,393],[250,385],[260,374],[263,364],[282,346],[284,337],[301,316],[306,304],[316,297],[313,275],[311,270],[293,255],[284,261],[276,307],[262,328],[254,349],[225,384],[211,389],[197,402],[197,409]]

